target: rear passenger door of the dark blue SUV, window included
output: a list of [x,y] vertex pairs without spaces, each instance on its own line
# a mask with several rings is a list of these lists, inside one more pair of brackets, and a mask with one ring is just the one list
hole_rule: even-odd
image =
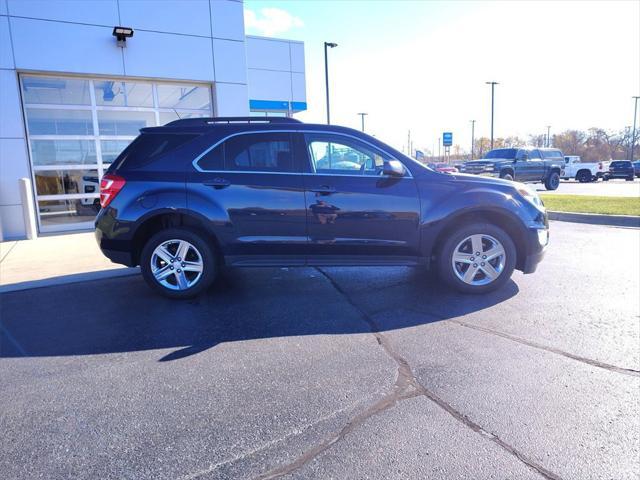
[[187,202],[205,212],[227,260],[304,264],[306,210],[288,132],[242,132],[213,145],[187,175]]

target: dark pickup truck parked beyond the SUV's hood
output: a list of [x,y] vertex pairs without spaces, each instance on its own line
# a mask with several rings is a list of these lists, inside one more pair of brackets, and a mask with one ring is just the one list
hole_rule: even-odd
[[466,162],[460,172],[544,183],[547,190],[555,190],[560,185],[563,168],[564,155],[557,148],[498,148],[481,160]]

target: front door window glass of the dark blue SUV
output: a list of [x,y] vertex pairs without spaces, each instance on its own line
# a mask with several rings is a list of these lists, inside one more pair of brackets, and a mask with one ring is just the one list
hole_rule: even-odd
[[386,156],[342,136],[306,135],[309,157],[317,173],[379,175]]

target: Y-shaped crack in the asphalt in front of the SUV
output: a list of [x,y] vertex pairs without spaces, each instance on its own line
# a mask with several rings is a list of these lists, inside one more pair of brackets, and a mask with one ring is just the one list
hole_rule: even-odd
[[483,438],[492,441],[507,453],[518,459],[521,463],[542,475],[545,479],[562,480],[561,477],[559,477],[557,474],[537,464],[525,454],[500,439],[500,437],[498,437],[497,435],[485,430],[479,424],[470,420],[466,415],[457,411],[443,399],[438,397],[435,393],[431,392],[424,385],[422,385],[415,377],[409,363],[393,349],[389,339],[381,333],[381,329],[376,324],[375,320],[373,320],[371,316],[369,316],[364,310],[362,310],[351,299],[347,292],[345,292],[342,287],[340,287],[340,285],[328,273],[326,273],[321,268],[316,267],[316,270],[318,270],[318,272],[320,272],[320,274],[322,274],[329,281],[333,288],[347,300],[347,302],[360,314],[364,322],[369,325],[371,333],[376,338],[378,344],[383,348],[385,353],[398,365],[398,374],[391,392],[386,394],[384,397],[382,397],[380,400],[375,402],[363,412],[356,415],[353,419],[347,422],[347,424],[340,431],[325,438],[322,442],[304,452],[293,462],[271,469],[256,477],[256,480],[280,478],[284,475],[295,472],[299,468],[317,458],[321,453],[331,448],[334,444],[341,441],[346,435],[361,426],[369,418],[394,407],[403,400],[415,397],[428,398],[449,415],[451,415],[454,419],[458,420],[460,423],[470,428],[475,433],[481,435]]

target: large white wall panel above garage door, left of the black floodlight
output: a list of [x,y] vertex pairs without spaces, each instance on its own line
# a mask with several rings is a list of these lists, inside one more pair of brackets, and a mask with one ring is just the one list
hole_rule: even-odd
[[10,22],[16,68],[124,74],[122,54],[110,27],[13,17]]

